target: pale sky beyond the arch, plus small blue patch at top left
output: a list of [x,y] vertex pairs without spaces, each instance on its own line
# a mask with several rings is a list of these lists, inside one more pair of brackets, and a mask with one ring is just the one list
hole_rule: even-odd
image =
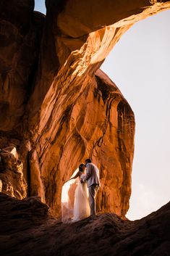
[[[46,13],[43,0],[35,9]],[[135,113],[129,220],[170,199],[170,10],[136,22],[101,66]]]

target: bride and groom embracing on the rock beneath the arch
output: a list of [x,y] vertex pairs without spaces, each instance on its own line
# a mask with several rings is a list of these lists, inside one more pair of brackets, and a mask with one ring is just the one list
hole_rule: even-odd
[[[85,171],[86,168],[86,171]],[[82,220],[95,214],[95,195],[100,186],[99,170],[90,159],[66,181],[61,196],[62,220]]]

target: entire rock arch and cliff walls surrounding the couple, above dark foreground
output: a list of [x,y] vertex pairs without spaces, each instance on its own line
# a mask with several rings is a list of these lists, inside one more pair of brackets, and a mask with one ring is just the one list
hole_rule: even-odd
[[41,197],[57,217],[63,182],[91,157],[101,171],[98,212],[124,218],[135,118],[98,69],[127,29],[170,3],[46,0],[46,7],[45,18],[33,1],[0,1],[0,147],[14,142],[27,196]]

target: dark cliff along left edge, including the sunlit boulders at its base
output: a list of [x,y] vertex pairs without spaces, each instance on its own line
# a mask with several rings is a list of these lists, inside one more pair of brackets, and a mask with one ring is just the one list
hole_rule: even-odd
[[[25,177],[21,184],[16,160],[8,153],[8,163],[3,154],[1,189],[7,194],[10,189],[11,195],[17,198],[31,194],[25,184],[30,176],[27,162],[30,144],[25,136],[23,115],[38,67],[44,21],[44,15],[33,12],[33,8],[33,0],[0,1],[0,149],[11,145],[17,148]],[[27,180],[27,184],[30,190],[30,181]]]

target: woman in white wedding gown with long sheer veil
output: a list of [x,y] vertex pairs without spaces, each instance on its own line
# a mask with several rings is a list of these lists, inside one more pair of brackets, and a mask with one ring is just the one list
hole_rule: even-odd
[[64,183],[61,194],[61,213],[64,223],[90,216],[87,183],[80,182],[83,176],[85,176],[85,165],[81,164],[72,177]]

